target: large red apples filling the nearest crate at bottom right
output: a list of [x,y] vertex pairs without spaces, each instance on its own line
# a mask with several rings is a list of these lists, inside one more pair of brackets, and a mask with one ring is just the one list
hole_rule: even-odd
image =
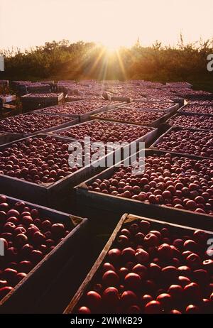
[[[146,226],[146,232],[144,227]],[[129,236],[131,248],[123,248],[120,236]],[[169,244],[163,236],[168,236]],[[138,246],[138,234],[144,234]],[[158,245],[147,244],[146,236],[158,236]],[[185,236],[187,234],[187,236]],[[197,239],[197,236],[202,238]],[[145,219],[126,220],[116,235],[102,265],[93,276],[73,312],[104,314],[184,314],[212,313],[212,269],[204,268],[205,261],[211,261],[206,255],[206,241],[211,234],[201,230],[174,229],[174,227],[147,222]],[[175,241],[182,243],[173,246]],[[182,245],[185,244],[184,248]],[[185,252],[196,244],[194,255],[200,257],[197,268],[185,265]],[[153,251],[154,248],[154,251]],[[131,253],[141,249],[148,254],[146,263]],[[122,256],[122,253],[129,256]],[[111,254],[117,254],[111,262]],[[199,255],[198,255],[199,254]],[[173,266],[178,256],[177,266]],[[129,262],[131,260],[131,262]],[[158,264],[155,264],[158,262]],[[131,263],[131,265],[130,265]],[[111,270],[103,272],[111,266]],[[184,273],[185,271],[185,273]],[[121,274],[122,273],[122,274]],[[185,274],[185,276],[183,276]],[[188,275],[190,278],[187,278]],[[200,278],[200,279],[199,279]],[[97,286],[98,293],[97,293]]]

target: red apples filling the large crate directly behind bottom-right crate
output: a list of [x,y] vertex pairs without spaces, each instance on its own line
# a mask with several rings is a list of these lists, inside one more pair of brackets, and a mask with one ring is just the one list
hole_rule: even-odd
[[195,160],[170,153],[153,155],[146,157],[140,176],[133,174],[133,166],[122,164],[113,175],[94,180],[88,187],[109,195],[116,192],[116,196],[148,204],[213,215],[212,169],[212,159]]

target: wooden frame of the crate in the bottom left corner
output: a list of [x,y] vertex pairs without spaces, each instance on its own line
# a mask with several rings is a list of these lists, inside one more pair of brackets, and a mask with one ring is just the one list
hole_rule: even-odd
[[[9,204],[13,205],[19,201],[7,197]],[[35,302],[50,285],[51,281],[58,274],[66,261],[77,261],[77,248],[81,246],[82,238],[86,234],[87,219],[75,217],[72,214],[65,214],[57,212],[53,209],[40,207],[35,204],[27,203],[26,206],[38,209],[40,215],[45,218],[48,217],[53,222],[69,224],[70,234],[68,234],[60,243],[55,246],[53,251],[50,251],[40,263],[38,263],[30,273],[21,280],[18,285],[0,301],[0,313],[32,313]],[[73,266],[74,267],[74,266]],[[73,268],[71,274],[72,282],[77,284],[77,273]]]

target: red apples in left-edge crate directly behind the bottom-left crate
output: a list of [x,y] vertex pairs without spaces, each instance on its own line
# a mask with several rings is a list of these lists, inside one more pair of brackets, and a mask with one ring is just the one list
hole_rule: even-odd
[[[52,136],[11,143],[0,151],[0,173],[38,185],[54,183],[82,168],[86,160],[92,163],[92,155],[99,149],[84,153],[82,147],[82,153],[75,156],[69,151],[69,145],[69,142]],[[105,154],[105,150],[99,149],[99,158]]]

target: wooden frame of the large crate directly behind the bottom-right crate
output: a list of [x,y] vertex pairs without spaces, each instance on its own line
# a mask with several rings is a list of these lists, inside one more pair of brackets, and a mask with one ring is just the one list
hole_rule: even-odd
[[[167,152],[155,151],[151,149],[146,149],[145,155],[163,155]],[[176,154],[171,153],[173,157]],[[180,155],[182,157],[182,155]],[[193,158],[200,160],[192,155],[185,155],[184,157]],[[121,162],[122,163],[122,162]],[[140,202],[135,199],[128,199],[124,197],[112,196],[103,194],[101,192],[94,192],[88,190],[88,186],[92,184],[96,179],[108,179],[119,167],[119,163],[102,171],[98,175],[82,182],[80,185],[74,188],[76,194],[77,210],[80,211],[81,215],[84,212],[89,211],[102,212],[108,214],[110,217],[111,213],[117,213],[121,215],[124,212],[133,213],[136,215],[146,215],[146,217],[158,218],[159,220],[164,220],[166,222],[172,222],[175,224],[182,224],[185,226],[193,226],[197,229],[207,229],[213,231],[212,220],[213,217],[209,214],[200,214],[185,209],[175,209],[173,207],[166,207],[165,205],[158,204],[148,204],[146,202]],[[84,204],[84,207],[81,207]]]

